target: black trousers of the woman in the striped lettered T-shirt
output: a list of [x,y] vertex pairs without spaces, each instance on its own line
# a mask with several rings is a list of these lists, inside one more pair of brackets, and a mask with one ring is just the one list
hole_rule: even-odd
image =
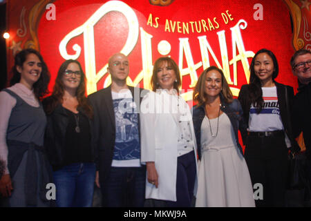
[[284,135],[247,137],[245,160],[253,186],[263,186],[263,198],[255,200],[256,206],[285,206],[288,148]]

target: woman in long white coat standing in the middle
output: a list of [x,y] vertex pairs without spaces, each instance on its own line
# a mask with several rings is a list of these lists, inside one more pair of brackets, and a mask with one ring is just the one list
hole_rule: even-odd
[[151,79],[153,91],[140,106],[141,160],[147,164],[146,206],[191,206],[194,196],[196,137],[189,106],[178,93],[180,84],[175,61],[158,59]]

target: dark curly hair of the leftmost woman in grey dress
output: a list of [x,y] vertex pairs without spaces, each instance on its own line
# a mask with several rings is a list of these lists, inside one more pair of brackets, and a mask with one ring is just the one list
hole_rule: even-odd
[[50,72],[48,71],[48,66],[46,66],[46,62],[44,62],[41,54],[32,48],[27,48],[21,50],[17,55],[15,55],[15,64],[12,67],[11,72],[13,73],[13,77],[10,80],[10,86],[19,83],[21,80],[21,73],[18,72],[17,66],[23,68],[23,63],[26,61],[27,56],[30,54],[35,54],[39,58],[41,62],[41,75],[39,79],[32,85],[33,91],[37,99],[42,99],[44,95],[48,94],[48,83],[50,82]]

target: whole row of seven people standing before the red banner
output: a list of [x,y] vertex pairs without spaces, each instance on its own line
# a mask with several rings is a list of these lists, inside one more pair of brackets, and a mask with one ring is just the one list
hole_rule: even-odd
[[[311,177],[310,51],[291,60],[296,96],[275,81],[276,57],[262,49],[238,99],[223,70],[210,66],[191,110],[170,57],[153,64],[150,91],[126,84],[125,55],[108,63],[111,85],[86,97],[79,61],[64,61],[45,97],[44,59],[32,49],[16,55],[11,86],[0,93],[3,206],[92,206],[94,183],[102,206],[285,206],[288,151],[299,151],[301,131]],[[56,200],[47,198],[49,183]],[[254,200],[254,184],[263,198]]]

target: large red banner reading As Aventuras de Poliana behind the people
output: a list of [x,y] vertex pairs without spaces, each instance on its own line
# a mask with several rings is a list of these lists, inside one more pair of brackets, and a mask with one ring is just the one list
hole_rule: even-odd
[[[22,48],[36,48],[52,75],[66,59],[81,62],[87,93],[110,84],[107,62],[115,52],[129,56],[128,82],[149,88],[153,62],[171,56],[182,77],[182,96],[191,100],[202,70],[222,68],[234,95],[247,84],[257,50],[272,50],[277,81],[294,86],[290,57],[311,49],[308,0],[58,0],[8,1],[8,70]],[[9,77],[10,78],[10,77]]]

